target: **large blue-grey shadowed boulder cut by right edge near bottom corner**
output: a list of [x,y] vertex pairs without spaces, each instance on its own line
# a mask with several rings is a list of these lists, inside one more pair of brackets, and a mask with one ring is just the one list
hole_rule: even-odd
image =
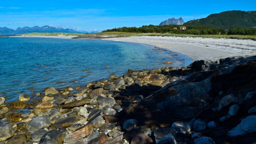
[[233,137],[253,132],[256,132],[256,115],[243,119],[238,126],[228,132],[228,135]]

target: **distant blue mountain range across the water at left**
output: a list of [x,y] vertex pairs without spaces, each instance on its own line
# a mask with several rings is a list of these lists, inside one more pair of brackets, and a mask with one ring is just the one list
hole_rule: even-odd
[[75,31],[73,29],[64,29],[61,27],[51,27],[48,25],[39,27],[18,27],[16,30],[7,28],[7,27],[0,27],[0,34],[1,35],[17,35],[17,34],[24,34],[24,33],[32,33],[32,32],[38,32],[38,33],[53,33],[53,32],[61,32],[61,33],[87,33],[87,32],[79,32]]

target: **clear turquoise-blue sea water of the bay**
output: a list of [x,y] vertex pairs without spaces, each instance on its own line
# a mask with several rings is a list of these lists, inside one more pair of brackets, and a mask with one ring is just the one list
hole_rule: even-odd
[[13,101],[20,94],[43,92],[50,86],[85,86],[110,75],[121,76],[127,69],[192,62],[184,55],[156,50],[151,45],[105,40],[0,37],[0,95]]

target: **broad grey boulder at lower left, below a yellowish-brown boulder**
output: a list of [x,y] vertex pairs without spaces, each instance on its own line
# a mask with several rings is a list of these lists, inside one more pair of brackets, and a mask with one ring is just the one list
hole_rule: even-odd
[[49,116],[41,116],[32,118],[32,120],[28,123],[27,129],[29,132],[36,132],[41,128],[48,128],[51,125]]

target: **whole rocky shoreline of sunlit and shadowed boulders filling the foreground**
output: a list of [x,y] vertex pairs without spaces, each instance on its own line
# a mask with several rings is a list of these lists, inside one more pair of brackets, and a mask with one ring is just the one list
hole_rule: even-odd
[[0,143],[254,143],[255,79],[256,56],[243,56],[1,97]]

